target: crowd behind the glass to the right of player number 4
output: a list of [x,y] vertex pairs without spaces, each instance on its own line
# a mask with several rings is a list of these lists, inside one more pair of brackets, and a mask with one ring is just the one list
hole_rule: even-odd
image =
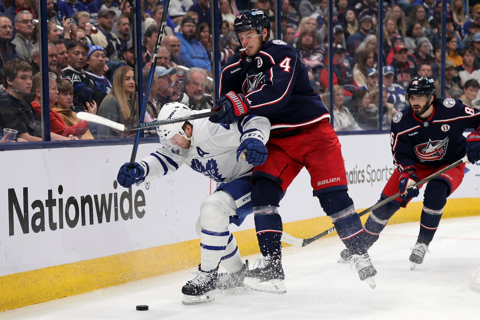
[[[467,12],[465,1],[449,1],[446,8],[444,96],[480,108],[480,4],[470,1]],[[440,79],[442,1],[384,1],[383,23],[375,0],[333,2],[333,38],[328,39],[328,1],[283,0],[282,39],[296,48],[325,105],[330,102],[327,55],[333,46],[335,130],[389,129],[392,117],[406,107],[405,88],[414,76]],[[383,47],[378,46],[380,32]],[[435,85],[440,94],[441,81]]]

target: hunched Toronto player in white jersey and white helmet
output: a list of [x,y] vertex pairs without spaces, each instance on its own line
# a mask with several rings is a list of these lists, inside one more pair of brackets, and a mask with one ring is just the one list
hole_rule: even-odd
[[[162,107],[159,119],[179,118],[202,111],[191,111],[185,105],[171,102]],[[157,127],[161,147],[128,170],[121,166],[118,181],[130,188],[134,183],[152,180],[172,173],[182,164],[190,166],[216,182],[221,182],[214,193],[205,198],[200,207],[196,230],[200,237],[201,263],[198,273],[182,288],[185,305],[210,302],[216,288],[242,286],[247,265],[228,225],[240,225],[252,213],[249,195],[250,177],[254,165],[264,163],[267,157],[265,142],[270,133],[270,122],[264,117],[249,116],[228,126],[220,126],[207,118]],[[246,150],[246,161],[239,161]],[[218,265],[228,273],[218,274]]]

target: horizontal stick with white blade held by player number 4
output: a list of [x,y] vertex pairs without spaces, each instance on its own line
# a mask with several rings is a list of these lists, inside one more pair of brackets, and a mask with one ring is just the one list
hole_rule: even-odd
[[[130,124],[130,125],[124,125],[112,120],[109,120],[107,118],[103,118],[88,112],[77,112],[77,118],[81,120],[86,120],[89,122],[95,122],[119,131],[130,131],[130,130],[140,130],[140,129],[145,129],[145,128],[152,128],[156,127],[162,124],[167,124],[167,123],[176,123],[176,122],[185,122],[185,121],[190,121],[193,119],[201,119],[201,118],[207,118],[211,116],[215,116],[218,114],[217,111],[215,112],[204,112],[204,113],[197,113],[193,114],[191,116],[184,116],[184,117],[179,117],[179,118],[171,118],[171,119],[166,119],[166,120],[155,120],[151,122],[145,122],[145,123],[137,123],[137,124]],[[138,147],[138,146],[137,146]],[[136,154],[136,152],[135,152]]]

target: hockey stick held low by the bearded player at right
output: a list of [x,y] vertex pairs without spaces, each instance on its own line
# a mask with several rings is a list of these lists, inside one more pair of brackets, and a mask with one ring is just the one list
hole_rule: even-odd
[[[456,161],[455,163],[451,164],[450,166],[446,166],[443,169],[441,169],[441,170],[433,173],[432,175],[428,176],[427,178],[424,178],[423,180],[420,180],[419,182],[415,183],[412,187],[420,187],[422,184],[427,183],[428,181],[432,180],[433,178],[436,178],[436,177],[440,176],[444,172],[446,172],[446,171],[448,171],[452,168],[455,168],[456,166],[461,165],[464,162],[467,162],[467,160],[468,160],[467,156],[464,156],[462,159]],[[372,205],[370,208],[365,209],[362,212],[360,212],[359,217],[361,217],[362,215],[365,215],[369,212],[372,212],[373,210],[375,210],[377,208],[380,208],[385,203],[388,203],[388,202],[398,198],[399,196],[400,196],[400,193],[397,192],[393,196],[390,196],[390,197],[376,203],[375,205]],[[291,245],[294,245],[294,246],[297,246],[297,247],[305,247],[306,245],[311,244],[313,241],[318,240],[321,237],[325,237],[326,235],[334,232],[335,230],[336,230],[335,227],[331,227],[330,229],[322,232],[321,234],[318,234],[314,237],[306,238],[306,239],[293,237],[293,236],[289,235],[288,233],[283,233],[281,241],[285,242],[285,243],[288,243],[288,244],[291,244]]]

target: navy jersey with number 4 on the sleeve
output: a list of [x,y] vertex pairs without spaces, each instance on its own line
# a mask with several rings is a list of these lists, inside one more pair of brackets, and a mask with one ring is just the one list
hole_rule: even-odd
[[282,40],[268,41],[255,56],[239,52],[228,59],[220,76],[220,97],[229,91],[245,95],[250,114],[268,118],[272,130],[330,119],[313,92],[307,68]]

